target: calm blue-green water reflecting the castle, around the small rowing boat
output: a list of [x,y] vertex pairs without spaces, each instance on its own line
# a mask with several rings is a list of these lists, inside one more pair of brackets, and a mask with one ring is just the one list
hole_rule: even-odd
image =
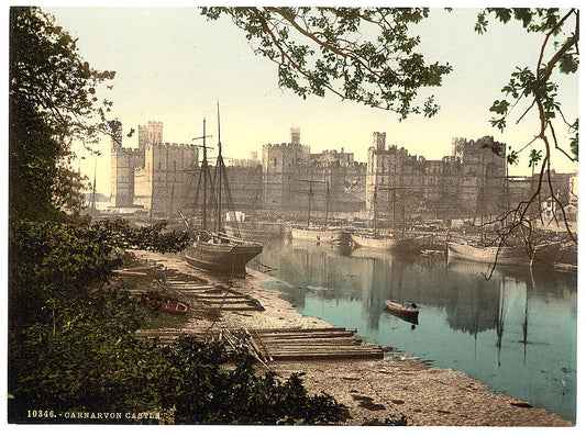
[[[366,341],[461,370],[493,392],[576,419],[575,274],[371,249],[265,242],[258,260],[301,314],[357,329]],[[419,324],[385,311],[416,302]]]

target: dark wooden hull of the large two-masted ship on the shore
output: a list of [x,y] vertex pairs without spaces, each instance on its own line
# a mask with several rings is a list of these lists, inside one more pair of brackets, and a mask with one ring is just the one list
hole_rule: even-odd
[[203,270],[245,278],[246,264],[262,251],[263,245],[258,243],[196,240],[187,248],[185,258],[189,265]]

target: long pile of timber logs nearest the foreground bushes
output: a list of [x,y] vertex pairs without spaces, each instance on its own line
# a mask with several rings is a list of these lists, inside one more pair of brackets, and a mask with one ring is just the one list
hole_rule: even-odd
[[239,332],[217,329],[139,329],[137,337],[158,338],[170,344],[186,335],[202,341],[222,341],[228,349],[246,346],[262,362],[308,359],[380,359],[383,348],[364,344],[345,328],[243,328]]

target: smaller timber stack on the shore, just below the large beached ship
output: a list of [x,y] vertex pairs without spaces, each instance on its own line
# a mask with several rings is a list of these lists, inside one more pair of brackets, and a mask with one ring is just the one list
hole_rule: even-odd
[[167,285],[172,290],[194,298],[206,310],[265,311],[264,306],[256,299],[223,285],[201,285],[175,278],[168,278]]

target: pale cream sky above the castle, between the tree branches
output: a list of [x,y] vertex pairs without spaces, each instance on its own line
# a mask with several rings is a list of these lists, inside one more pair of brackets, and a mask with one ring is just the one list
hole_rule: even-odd
[[[112,90],[103,97],[114,102],[112,116],[121,120],[124,133],[161,121],[165,142],[191,143],[201,135],[206,117],[208,133],[215,135],[219,101],[228,158],[248,158],[252,150],[262,156],[264,144],[290,142],[291,127],[300,128],[301,143],[312,153],[343,147],[358,161],[367,159],[373,132],[386,132],[387,144],[405,147],[412,155],[441,159],[451,154],[453,137],[491,135],[515,149],[529,143],[539,128],[533,111],[518,125],[511,119],[501,133],[490,126],[488,109],[502,98],[500,89],[516,66],[534,67],[541,35],[530,35],[517,23],[491,23],[487,34],[478,35],[474,32],[478,9],[456,8],[450,13],[433,9],[431,18],[414,31],[428,61],[447,61],[453,71],[441,88],[421,92],[435,97],[440,113],[432,119],[413,115],[402,122],[392,112],[341,101],[333,94],[303,100],[280,89],[276,66],[254,55],[243,31],[226,19],[207,21],[195,7],[42,9],[78,38],[81,57],[93,68],[117,72]],[[564,115],[574,120],[577,77],[557,77],[557,81]],[[567,130],[559,126],[557,134],[566,144]],[[123,145],[136,147],[136,135],[124,136]],[[86,153],[80,155],[86,159],[77,161],[90,180],[97,164],[97,189],[106,194],[110,193],[110,147],[104,139],[98,146],[99,158]],[[566,172],[577,166],[557,153],[553,168]],[[529,171],[526,159],[510,173]]]

